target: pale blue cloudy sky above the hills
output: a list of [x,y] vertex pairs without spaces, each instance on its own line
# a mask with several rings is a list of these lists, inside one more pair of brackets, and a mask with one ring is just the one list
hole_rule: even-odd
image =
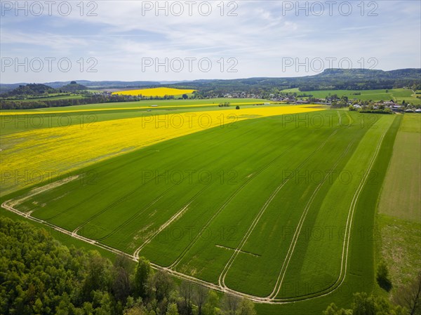
[[421,67],[421,1],[1,1],[1,83]]

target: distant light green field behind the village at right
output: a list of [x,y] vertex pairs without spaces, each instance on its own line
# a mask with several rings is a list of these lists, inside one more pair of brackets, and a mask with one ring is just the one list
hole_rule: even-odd
[[283,90],[283,92],[297,93],[298,95],[313,95],[314,98],[326,98],[328,95],[336,94],[338,98],[342,96],[347,96],[349,100],[373,100],[374,102],[379,102],[380,100],[394,100],[395,102],[406,102],[413,103],[413,105],[421,105],[421,99],[416,98],[414,91],[411,91],[406,88],[394,88],[390,90],[361,90],[361,91],[351,91],[351,90],[327,90],[327,91],[305,91],[301,92],[298,88],[290,88],[288,90]]

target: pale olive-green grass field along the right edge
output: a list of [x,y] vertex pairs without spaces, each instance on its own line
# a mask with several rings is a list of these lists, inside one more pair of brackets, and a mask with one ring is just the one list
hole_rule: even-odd
[[378,204],[378,255],[387,263],[392,295],[421,272],[421,116],[404,114]]

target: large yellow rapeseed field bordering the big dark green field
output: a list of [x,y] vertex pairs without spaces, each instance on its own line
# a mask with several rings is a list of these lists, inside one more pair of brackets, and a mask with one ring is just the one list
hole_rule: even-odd
[[321,110],[313,106],[255,107],[187,112],[88,125],[29,130],[1,136],[1,195],[50,180],[134,149],[244,119]]

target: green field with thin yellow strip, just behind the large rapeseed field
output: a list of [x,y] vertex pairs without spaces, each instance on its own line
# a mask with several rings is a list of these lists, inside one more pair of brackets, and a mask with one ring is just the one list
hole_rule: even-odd
[[[267,100],[226,99],[210,100],[145,100],[139,102],[115,102],[105,104],[47,107],[40,109],[0,110],[0,134],[17,133],[41,128],[91,126],[100,121],[139,117],[144,114],[181,114],[201,110],[218,110],[219,104],[229,102],[230,107],[253,107]],[[151,107],[158,105],[158,107]],[[225,108],[225,107],[223,107]]]

